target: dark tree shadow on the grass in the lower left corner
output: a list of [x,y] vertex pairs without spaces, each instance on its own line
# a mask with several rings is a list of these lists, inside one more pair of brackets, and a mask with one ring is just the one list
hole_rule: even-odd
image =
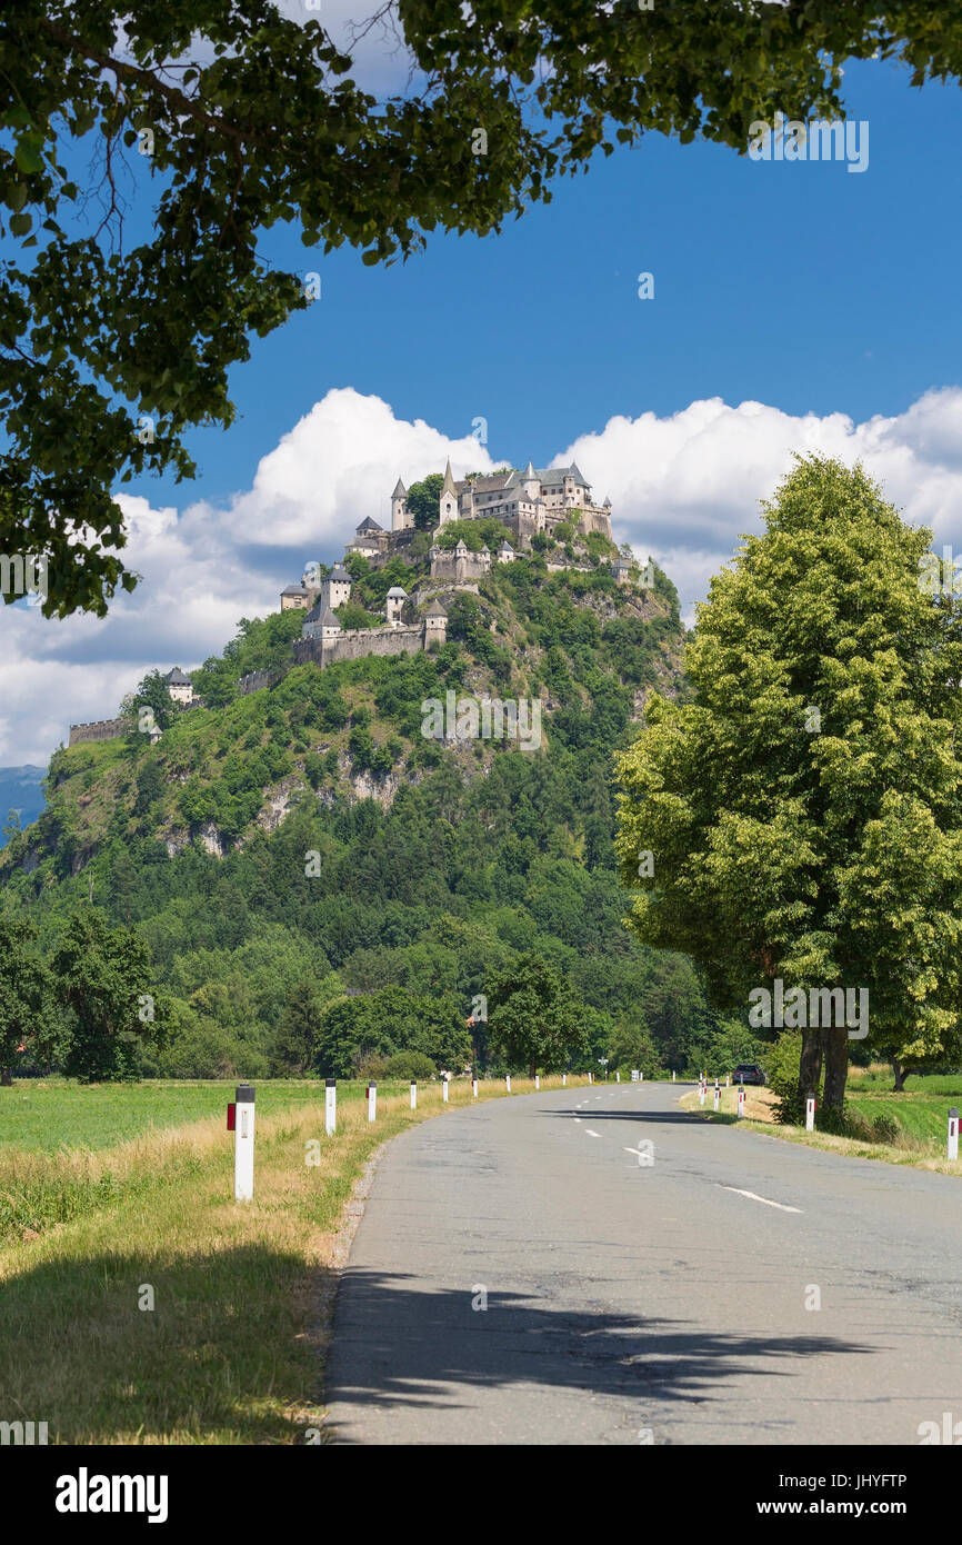
[[[293,1414],[320,1401],[334,1275],[306,1279],[301,1256],[266,1245],[158,1255],[0,1284],[0,1420],[46,1421],[51,1443],[296,1441]],[[139,1307],[145,1287],[154,1309]]]

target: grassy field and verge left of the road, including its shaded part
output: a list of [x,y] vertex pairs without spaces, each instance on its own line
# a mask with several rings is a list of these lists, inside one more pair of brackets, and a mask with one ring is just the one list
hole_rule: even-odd
[[[256,1088],[249,1204],[233,1200],[233,1083],[0,1091],[0,1420],[46,1421],[51,1443],[315,1441],[355,1182],[386,1139],[471,1103],[471,1085],[449,1105],[420,1086],[417,1112],[406,1086],[378,1086],[375,1123],[361,1086],[340,1085],[330,1139],[320,1085]],[[191,1119],[198,1102],[215,1114]],[[108,1143],[111,1122],[124,1140]]]

